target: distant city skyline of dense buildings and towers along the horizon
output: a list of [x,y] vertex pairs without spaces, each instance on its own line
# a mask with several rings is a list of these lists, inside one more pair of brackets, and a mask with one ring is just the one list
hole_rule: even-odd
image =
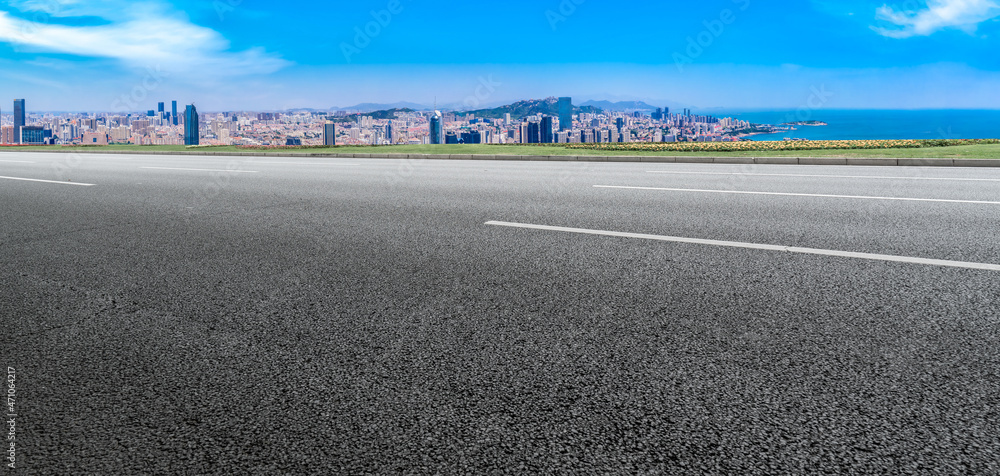
[[[717,142],[739,140],[755,125],[670,108],[574,114],[558,98],[557,114],[476,117],[471,113],[398,111],[392,118],[316,111],[178,113],[177,101],[145,113],[29,114],[24,99],[0,116],[3,144],[141,145],[390,145]],[[385,114],[380,115],[380,117]]]

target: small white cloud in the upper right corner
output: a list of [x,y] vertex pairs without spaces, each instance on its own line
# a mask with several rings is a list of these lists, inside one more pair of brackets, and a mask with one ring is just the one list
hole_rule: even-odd
[[992,0],[928,0],[927,7],[921,10],[902,11],[883,5],[876,16],[894,25],[872,27],[889,38],[929,36],[947,28],[973,34],[980,23],[1000,16],[1000,5]]

